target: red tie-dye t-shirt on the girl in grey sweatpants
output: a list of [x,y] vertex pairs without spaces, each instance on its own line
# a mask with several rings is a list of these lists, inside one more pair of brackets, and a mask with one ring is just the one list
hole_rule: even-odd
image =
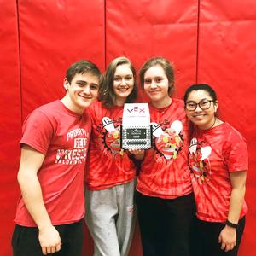
[[123,107],[104,108],[94,102],[90,108],[92,133],[85,182],[90,190],[108,189],[131,181],[136,169],[128,154],[120,148]]

